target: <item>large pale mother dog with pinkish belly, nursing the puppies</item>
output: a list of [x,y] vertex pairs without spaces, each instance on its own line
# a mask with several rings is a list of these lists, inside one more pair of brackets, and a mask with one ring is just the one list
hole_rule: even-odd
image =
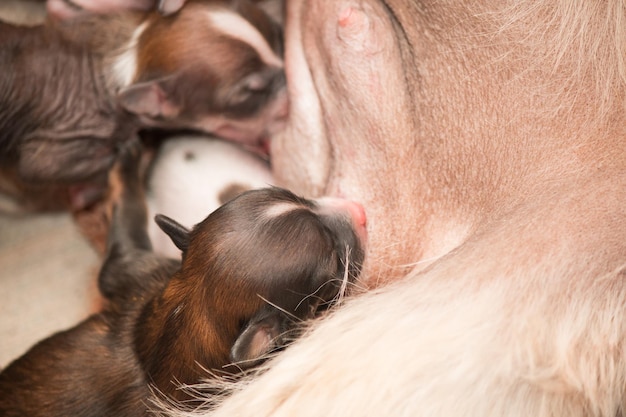
[[622,415],[624,2],[289,0],[286,71],[275,174],[377,289],[215,415]]

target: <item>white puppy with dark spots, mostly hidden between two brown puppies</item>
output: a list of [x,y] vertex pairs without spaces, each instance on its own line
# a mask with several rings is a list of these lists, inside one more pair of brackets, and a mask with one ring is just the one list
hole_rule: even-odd
[[[159,147],[147,182],[149,217],[162,213],[191,227],[241,192],[274,180],[269,164],[240,146],[184,135]],[[156,223],[148,225],[148,234],[156,253],[180,258],[180,250]]]

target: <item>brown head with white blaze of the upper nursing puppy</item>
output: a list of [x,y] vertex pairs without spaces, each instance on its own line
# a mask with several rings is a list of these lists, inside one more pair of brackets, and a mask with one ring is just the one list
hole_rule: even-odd
[[258,6],[192,1],[140,28],[133,81],[119,98],[144,123],[195,128],[251,146],[282,125],[282,30]]

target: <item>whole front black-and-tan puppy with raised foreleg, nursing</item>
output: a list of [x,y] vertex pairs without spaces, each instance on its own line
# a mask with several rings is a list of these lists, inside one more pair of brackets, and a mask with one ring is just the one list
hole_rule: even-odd
[[2,416],[140,416],[152,387],[189,399],[179,384],[260,362],[358,273],[362,208],[278,188],[244,193],[191,231],[158,217],[183,260],[159,257],[136,167],[121,172],[99,277],[107,304],[0,374]]

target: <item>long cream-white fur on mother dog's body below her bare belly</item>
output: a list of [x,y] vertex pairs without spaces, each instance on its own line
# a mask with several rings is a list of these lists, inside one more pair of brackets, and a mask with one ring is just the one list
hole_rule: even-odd
[[[626,301],[624,271],[565,292],[569,277],[546,277],[538,297],[537,282],[472,286],[475,272],[356,300],[211,415],[617,415],[625,326],[612,310]],[[571,303],[555,311],[563,296]],[[517,311],[508,297],[537,298]]]

